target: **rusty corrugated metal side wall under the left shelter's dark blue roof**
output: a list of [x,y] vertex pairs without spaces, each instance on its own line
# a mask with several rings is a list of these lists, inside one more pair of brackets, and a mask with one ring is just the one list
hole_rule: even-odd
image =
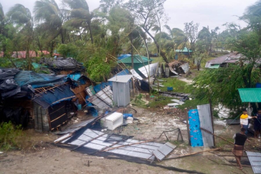
[[42,108],[39,104],[33,102],[33,115],[35,122],[35,130],[50,131],[48,114],[46,109]]

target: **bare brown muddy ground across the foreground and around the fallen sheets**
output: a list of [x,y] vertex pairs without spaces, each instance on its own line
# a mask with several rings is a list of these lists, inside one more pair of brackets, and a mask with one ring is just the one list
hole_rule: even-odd
[[[143,109],[133,107],[137,110],[134,117],[139,118],[133,124],[128,124],[122,131],[123,135],[133,135],[135,139],[152,139],[158,137],[162,131],[180,128],[184,142],[177,141],[177,132],[167,134],[173,144],[177,145],[170,157],[180,154],[192,153],[205,150],[204,148],[191,148],[188,145],[188,136],[186,124],[180,120],[185,119],[184,111],[180,109]],[[83,117],[82,119],[84,119]],[[79,120],[78,120],[79,121]],[[235,132],[239,131],[239,125],[226,127],[219,120],[215,120],[215,133],[224,138],[230,138]],[[117,132],[117,130],[115,130]],[[54,133],[39,133],[34,130],[26,130],[23,148],[17,151],[9,151],[0,155],[0,174],[16,174],[16,173],[64,173],[64,174],[80,174],[80,173],[140,173],[140,174],[156,174],[156,173],[179,173],[160,167],[149,166],[127,162],[124,160],[112,160],[104,157],[90,156],[77,152],[70,152],[67,149],[59,148],[49,144],[59,136]],[[166,141],[163,137],[159,141]],[[260,147],[260,139],[252,139],[247,143],[246,148]],[[219,139],[216,139],[216,145],[222,146],[225,150],[230,151],[232,146]],[[215,154],[213,154],[215,153]],[[201,173],[253,173],[251,167],[244,167],[241,171],[235,166],[230,166],[228,160],[234,160],[231,157],[221,157],[218,155],[232,155],[231,152],[214,151],[213,153],[197,154],[189,157],[183,157],[173,160],[165,160],[158,164],[163,166],[172,166],[186,170],[198,171]],[[176,154],[176,155],[175,155]],[[247,160],[243,157],[242,160]],[[88,161],[90,162],[88,166]],[[226,164],[226,165],[222,165]],[[235,164],[235,163],[232,163]],[[197,172],[195,172],[197,173]]]

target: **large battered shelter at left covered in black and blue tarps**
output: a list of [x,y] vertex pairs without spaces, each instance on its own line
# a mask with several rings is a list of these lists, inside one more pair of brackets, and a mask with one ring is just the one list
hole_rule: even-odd
[[[77,76],[79,78],[76,79],[70,75],[39,74],[19,69],[1,70],[1,119],[18,120],[16,124],[27,120],[28,125],[35,130],[53,131],[72,117],[76,110],[74,102],[77,102],[77,96],[81,96],[81,93],[75,90],[75,94],[73,88],[81,83],[88,84],[87,77]],[[21,112],[17,108],[21,108]],[[27,113],[27,116],[21,113]]]

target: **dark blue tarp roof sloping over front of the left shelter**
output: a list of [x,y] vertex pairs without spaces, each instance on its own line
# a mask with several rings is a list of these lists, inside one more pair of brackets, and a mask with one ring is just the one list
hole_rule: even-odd
[[76,97],[73,91],[70,90],[70,85],[65,84],[56,88],[53,88],[52,91],[46,90],[46,93],[41,93],[35,95],[35,98],[32,99],[34,102],[41,105],[43,108],[48,108],[54,104],[57,104],[64,100],[71,100]]

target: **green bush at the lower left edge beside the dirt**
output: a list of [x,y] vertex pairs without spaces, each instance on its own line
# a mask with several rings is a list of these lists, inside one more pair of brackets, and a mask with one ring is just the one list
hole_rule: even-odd
[[11,122],[0,124],[0,149],[19,148],[19,137],[22,136],[21,125],[14,127]]

